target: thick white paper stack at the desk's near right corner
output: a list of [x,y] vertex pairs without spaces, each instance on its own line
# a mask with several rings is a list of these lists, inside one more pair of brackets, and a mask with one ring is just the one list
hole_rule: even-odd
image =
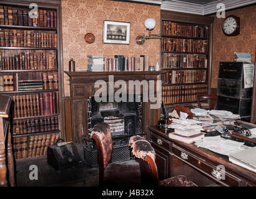
[[230,162],[240,165],[245,169],[256,172],[256,147],[250,147],[245,150],[239,150],[229,154]]

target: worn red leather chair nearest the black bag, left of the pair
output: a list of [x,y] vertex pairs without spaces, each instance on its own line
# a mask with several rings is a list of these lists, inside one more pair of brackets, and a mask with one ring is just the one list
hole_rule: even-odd
[[96,124],[92,129],[99,164],[99,185],[104,187],[139,187],[139,164],[112,163],[112,138],[109,124]]

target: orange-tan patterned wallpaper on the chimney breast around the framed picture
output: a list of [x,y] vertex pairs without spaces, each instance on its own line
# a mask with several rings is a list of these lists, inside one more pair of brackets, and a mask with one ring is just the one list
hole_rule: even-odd
[[[144,21],[154,18],[156,21],[153,34],[160,32],[160,6],[117,2],[109,0],[62,0],[62,44],[63,67],[69,70],[69,60],[74,58],[76,71],[87,70],[87,55],[149,55],[149,65],[160,60],[159,39],[147,40],[144,45],[137,45],[135,38],[147,34]],[[102,44],[103,21],[130,22],[130,44]],[[87,44],[84,35],[91,32],[96,40]],[[69,96],[69,78],[64,74],[64,95]]]

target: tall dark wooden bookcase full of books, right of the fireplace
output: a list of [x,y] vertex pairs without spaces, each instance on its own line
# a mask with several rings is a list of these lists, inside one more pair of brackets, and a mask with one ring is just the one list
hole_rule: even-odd
[[161,11],[162,99],[192,104],[210,92],[214,18]]

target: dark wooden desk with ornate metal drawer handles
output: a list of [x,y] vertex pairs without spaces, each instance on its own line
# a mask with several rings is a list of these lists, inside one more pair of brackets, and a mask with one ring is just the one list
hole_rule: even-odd
[[[156,152],[160,180],[185,175],[199,186],[256,186],[255,172],[232,164],[224,156],[210,150],[170,139],[168,133],[156,126],[147,127],[147,140]],[[224,177],[216,175],[217,167],[224,168]]]

